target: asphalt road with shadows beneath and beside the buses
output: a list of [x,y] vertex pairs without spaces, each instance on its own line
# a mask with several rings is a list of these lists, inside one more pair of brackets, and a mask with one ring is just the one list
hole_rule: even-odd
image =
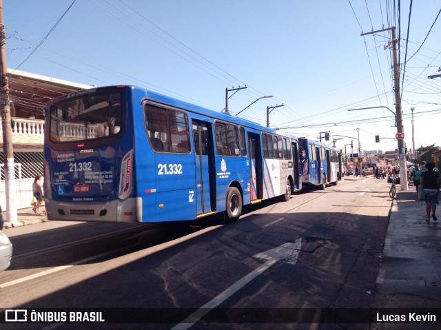
[[[145,314],[155,308],[161,322],[3,329],[335,329],[280,322],[285,309],[371,307],[388,192],[384,180],[340,181],[289,202],[246,207],[229,225],[207,218],[165,226],[47,222],[8,229],[14,258],[0,274],[1,307]],[[187,316],[192,321],[179,324]]]

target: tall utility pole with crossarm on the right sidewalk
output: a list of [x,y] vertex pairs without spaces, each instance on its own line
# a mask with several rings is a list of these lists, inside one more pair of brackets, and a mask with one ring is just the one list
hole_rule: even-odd
[[[404,129],[402,125],[402,112],[401,112],[401,98],[400,98],[400,70],[398,68],[398,56],[397,56],[397,43],[395,33],[395,26],[392,28],[362,33],[364,36],[366,34],[374,34],[377,32],[383,32],[391,30],[392,31],[392,55],[393,55],[393,90],[395,92],[395,119],[397,123],[397,140],[398,140],[398,158],[400,161],[400,181],[401,181],[401,189],[408,190],[407,186],[407,166],[406,166],[406,154],[404,153]],[[386,48],[384,48],[385,50]]]

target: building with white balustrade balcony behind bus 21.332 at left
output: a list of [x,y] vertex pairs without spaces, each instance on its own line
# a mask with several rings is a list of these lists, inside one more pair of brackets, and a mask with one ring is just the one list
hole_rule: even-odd
[[[44,107],[63,94],[94,86],[19,70],[8,70],[17,208],[30,207],[32,182],[43,175]],[[1,121],[1,118],[0,118]],[[0,125],[0,205],[6,205],[3,125]]]

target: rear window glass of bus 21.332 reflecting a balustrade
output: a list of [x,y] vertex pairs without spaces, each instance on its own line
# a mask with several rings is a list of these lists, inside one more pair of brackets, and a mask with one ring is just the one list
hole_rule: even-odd
[[87,95],[52,105],[50,141],[61,143],[113,136],[121,130],[121,94]]

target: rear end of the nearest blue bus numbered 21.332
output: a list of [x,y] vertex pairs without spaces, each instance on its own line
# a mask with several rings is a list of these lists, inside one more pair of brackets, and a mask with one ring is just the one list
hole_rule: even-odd
[[[134,127],[127,88],[62,96],[45,110],[45,205],[50,220],[135,221]],[[76,207],[72,207],[76,205]]]

